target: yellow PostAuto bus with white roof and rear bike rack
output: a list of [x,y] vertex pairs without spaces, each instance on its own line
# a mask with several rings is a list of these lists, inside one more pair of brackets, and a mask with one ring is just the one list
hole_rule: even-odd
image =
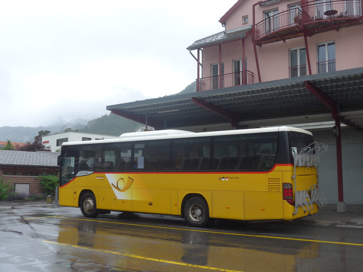
[[124,133],[62,144],[60,205],[211,219],[295,219],[326,205],[317,166],[327,146],[293,127]]

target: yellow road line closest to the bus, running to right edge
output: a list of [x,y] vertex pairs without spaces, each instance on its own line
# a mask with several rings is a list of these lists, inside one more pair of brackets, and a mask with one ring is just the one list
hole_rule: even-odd
[[315,242],[315,243],[327,243],[327,244],[344,244],[344,245],[349,245],[349,246],[361,246],[361,247],[363,247],[363,244],[345,243],[345,242],[331,242],[331,241],[312,240],[312,239],[298,239],[298,238],[286,238],[286,237],[266,236],[266,235],[240,234],[240,233],[229,233],[229,232],[210,231],[210,230],[192,230],[192,229],[188,229],[188,228],[173,228],[173,227],[151,226],[151,225],[143,225],[143,224],[109,222],[109,221],[99,221],[99,220],[93,220],[93,219],[69,218],[69,217],[62,217],[62,216],[59,216],[59,218],[72,219],[72,220],[93,221],[93,222],[104,222],[104,223],[111,223],[111,224],[122,224],[122,225],[129,225],[129,226],[167,228],[167,229],[171,229],[171,230],[199,231],[199,232],[216,233],[216,234],[227,234],[227,235],[237,235],[237,236],[260,237],[260,238],[293,240],[293,241],[303,241],[303,242]]

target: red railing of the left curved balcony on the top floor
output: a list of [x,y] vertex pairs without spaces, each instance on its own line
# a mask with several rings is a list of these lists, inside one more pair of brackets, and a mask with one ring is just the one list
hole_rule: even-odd
[[299,8],[289,9],[277,13],[256,24],[256,39],[260,39],[266,34],[276,32],[277,30],[290,26],[301,26],[302,17]]

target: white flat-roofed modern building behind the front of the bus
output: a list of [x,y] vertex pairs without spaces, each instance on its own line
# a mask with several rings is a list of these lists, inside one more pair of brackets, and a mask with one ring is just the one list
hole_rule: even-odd
[[42,143],[46,147],[49,146],[50,148],[52,148],[52,152],[55,152],[56,149],[60,148],[62,143],[65,142],[117,139],[118,137],[119,136],[67,131],[44,136],[42,137]]

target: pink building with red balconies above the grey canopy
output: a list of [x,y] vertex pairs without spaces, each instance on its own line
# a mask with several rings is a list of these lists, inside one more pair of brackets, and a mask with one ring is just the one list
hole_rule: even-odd
[[197,91],[362,67],[360,0],[238,0],[219,21],[187,48]]

